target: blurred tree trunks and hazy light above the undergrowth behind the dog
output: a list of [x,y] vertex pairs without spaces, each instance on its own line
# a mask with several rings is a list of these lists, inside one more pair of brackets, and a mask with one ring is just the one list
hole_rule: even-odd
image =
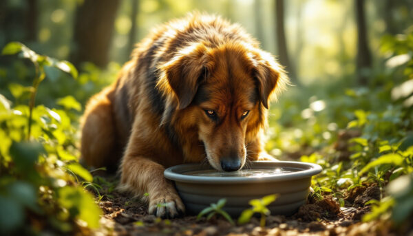
[[81,70],[86,61],[100,68],[122,65],[135,43],[169,19],[194,9],[220,14],[277,55],[296,85],[356,72],[366,85],[368,71],[390,56],[380,50],[381,37],[402,34],[413,19],[413,1],[391,0],[4,0],[0,9],[0,47],[21,41]]

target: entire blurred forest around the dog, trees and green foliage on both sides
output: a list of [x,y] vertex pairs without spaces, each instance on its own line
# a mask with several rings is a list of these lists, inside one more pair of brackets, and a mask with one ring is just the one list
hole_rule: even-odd
[[[85,103],[151,28],[193,10],[240,23],[286,66],[294,86],[271,107],[268,152],[320,164],[315,194],[341,206],[351,189],[379,186],[363,220],[411,219],[413,0],[1,0],[0,234],[98,225],[83,189],[101,200],[108,182],[78,164]],[[407,192],[386,189],[399,176]]]

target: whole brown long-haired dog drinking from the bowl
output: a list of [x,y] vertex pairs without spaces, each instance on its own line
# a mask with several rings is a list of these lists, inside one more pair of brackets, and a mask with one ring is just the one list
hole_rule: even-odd
[[116,167],[121,189],[149,193],[149,213],[184,211],[165,167],[207,159],[237,171],[266,160],[262,131],[272,95],[288,79],[239,25],[189,14],[144,39],[116,82],[87,103],[81,153],[94,167]]

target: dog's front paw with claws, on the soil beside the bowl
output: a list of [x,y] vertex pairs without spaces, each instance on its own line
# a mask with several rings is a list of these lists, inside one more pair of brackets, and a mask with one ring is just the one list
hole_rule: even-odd
[[175,218],[182,215],[184,211],[185,206],[175,193],[161,195],[153,199],[149,196],[149,214],[161,218]]

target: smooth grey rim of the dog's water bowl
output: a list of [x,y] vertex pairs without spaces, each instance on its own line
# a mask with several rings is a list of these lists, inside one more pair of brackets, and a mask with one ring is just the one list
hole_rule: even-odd
[[[282,182],[288,180],[298,180],[310,178],[322,171],[318,164],[309,162],[286,162],[286,161],[253,161],[254,167],[290,167],[302,169],[302,171],[284,173],[282,175],[264,176],[264,177],[220,177],[220,176],[195,176],[184,175],[183,171],[191,171],[197,167],[209,167],[209,165],[200,163],[179,164],[165,169],[165,178],[176,182],[199,183],[199,184],[249,184],[260,182]],[[212,168],[212,167],[210,167]]]

